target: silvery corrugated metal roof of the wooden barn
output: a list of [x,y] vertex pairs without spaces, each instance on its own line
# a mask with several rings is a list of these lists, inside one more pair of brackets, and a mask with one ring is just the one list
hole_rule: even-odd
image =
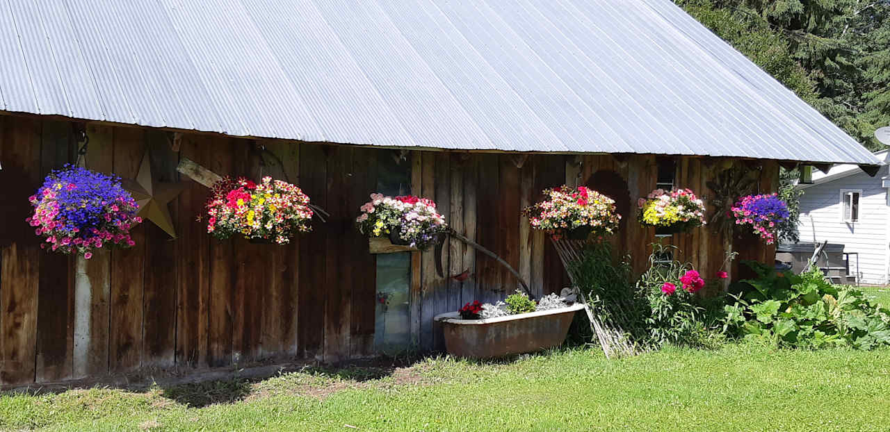
[[393,147],[877,164],[670,0],[8,0],[0,110]]

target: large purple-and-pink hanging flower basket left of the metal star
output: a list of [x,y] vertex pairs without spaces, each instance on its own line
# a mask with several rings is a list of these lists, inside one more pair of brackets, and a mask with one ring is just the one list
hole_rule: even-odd
[[40,247],[87,260],[104,246],[133,246],[130,228],[142,222],[120,179],[70,164],[46,176],[29,201],[34,214],[27,221],[45,238]]

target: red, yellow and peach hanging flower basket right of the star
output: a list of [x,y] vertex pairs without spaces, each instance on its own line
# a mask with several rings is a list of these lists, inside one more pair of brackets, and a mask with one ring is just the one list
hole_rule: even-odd
[[207,233],[221,240],[240,234],[255,244],[287,244],[296,233],[312,230],[309,196],[271,177],[259,184],[223,178],[214,184],[206,208]]

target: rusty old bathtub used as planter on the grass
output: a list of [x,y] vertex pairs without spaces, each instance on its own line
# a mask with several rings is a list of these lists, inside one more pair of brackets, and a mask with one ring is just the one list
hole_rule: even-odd
[[452,356],[493,358],[530,353],[562,344],[572,317],[584,305],[490,319],[460,319],[457,312],[433,320],[442,327],[445,348]]

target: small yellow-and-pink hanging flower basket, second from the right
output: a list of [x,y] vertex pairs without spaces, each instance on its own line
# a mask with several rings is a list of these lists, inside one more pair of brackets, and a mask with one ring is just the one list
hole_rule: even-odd
[[637,220],[658,228],[659,234],[676,234],[705,225],[705,203],[692,189],[655,189],[636,202]]

